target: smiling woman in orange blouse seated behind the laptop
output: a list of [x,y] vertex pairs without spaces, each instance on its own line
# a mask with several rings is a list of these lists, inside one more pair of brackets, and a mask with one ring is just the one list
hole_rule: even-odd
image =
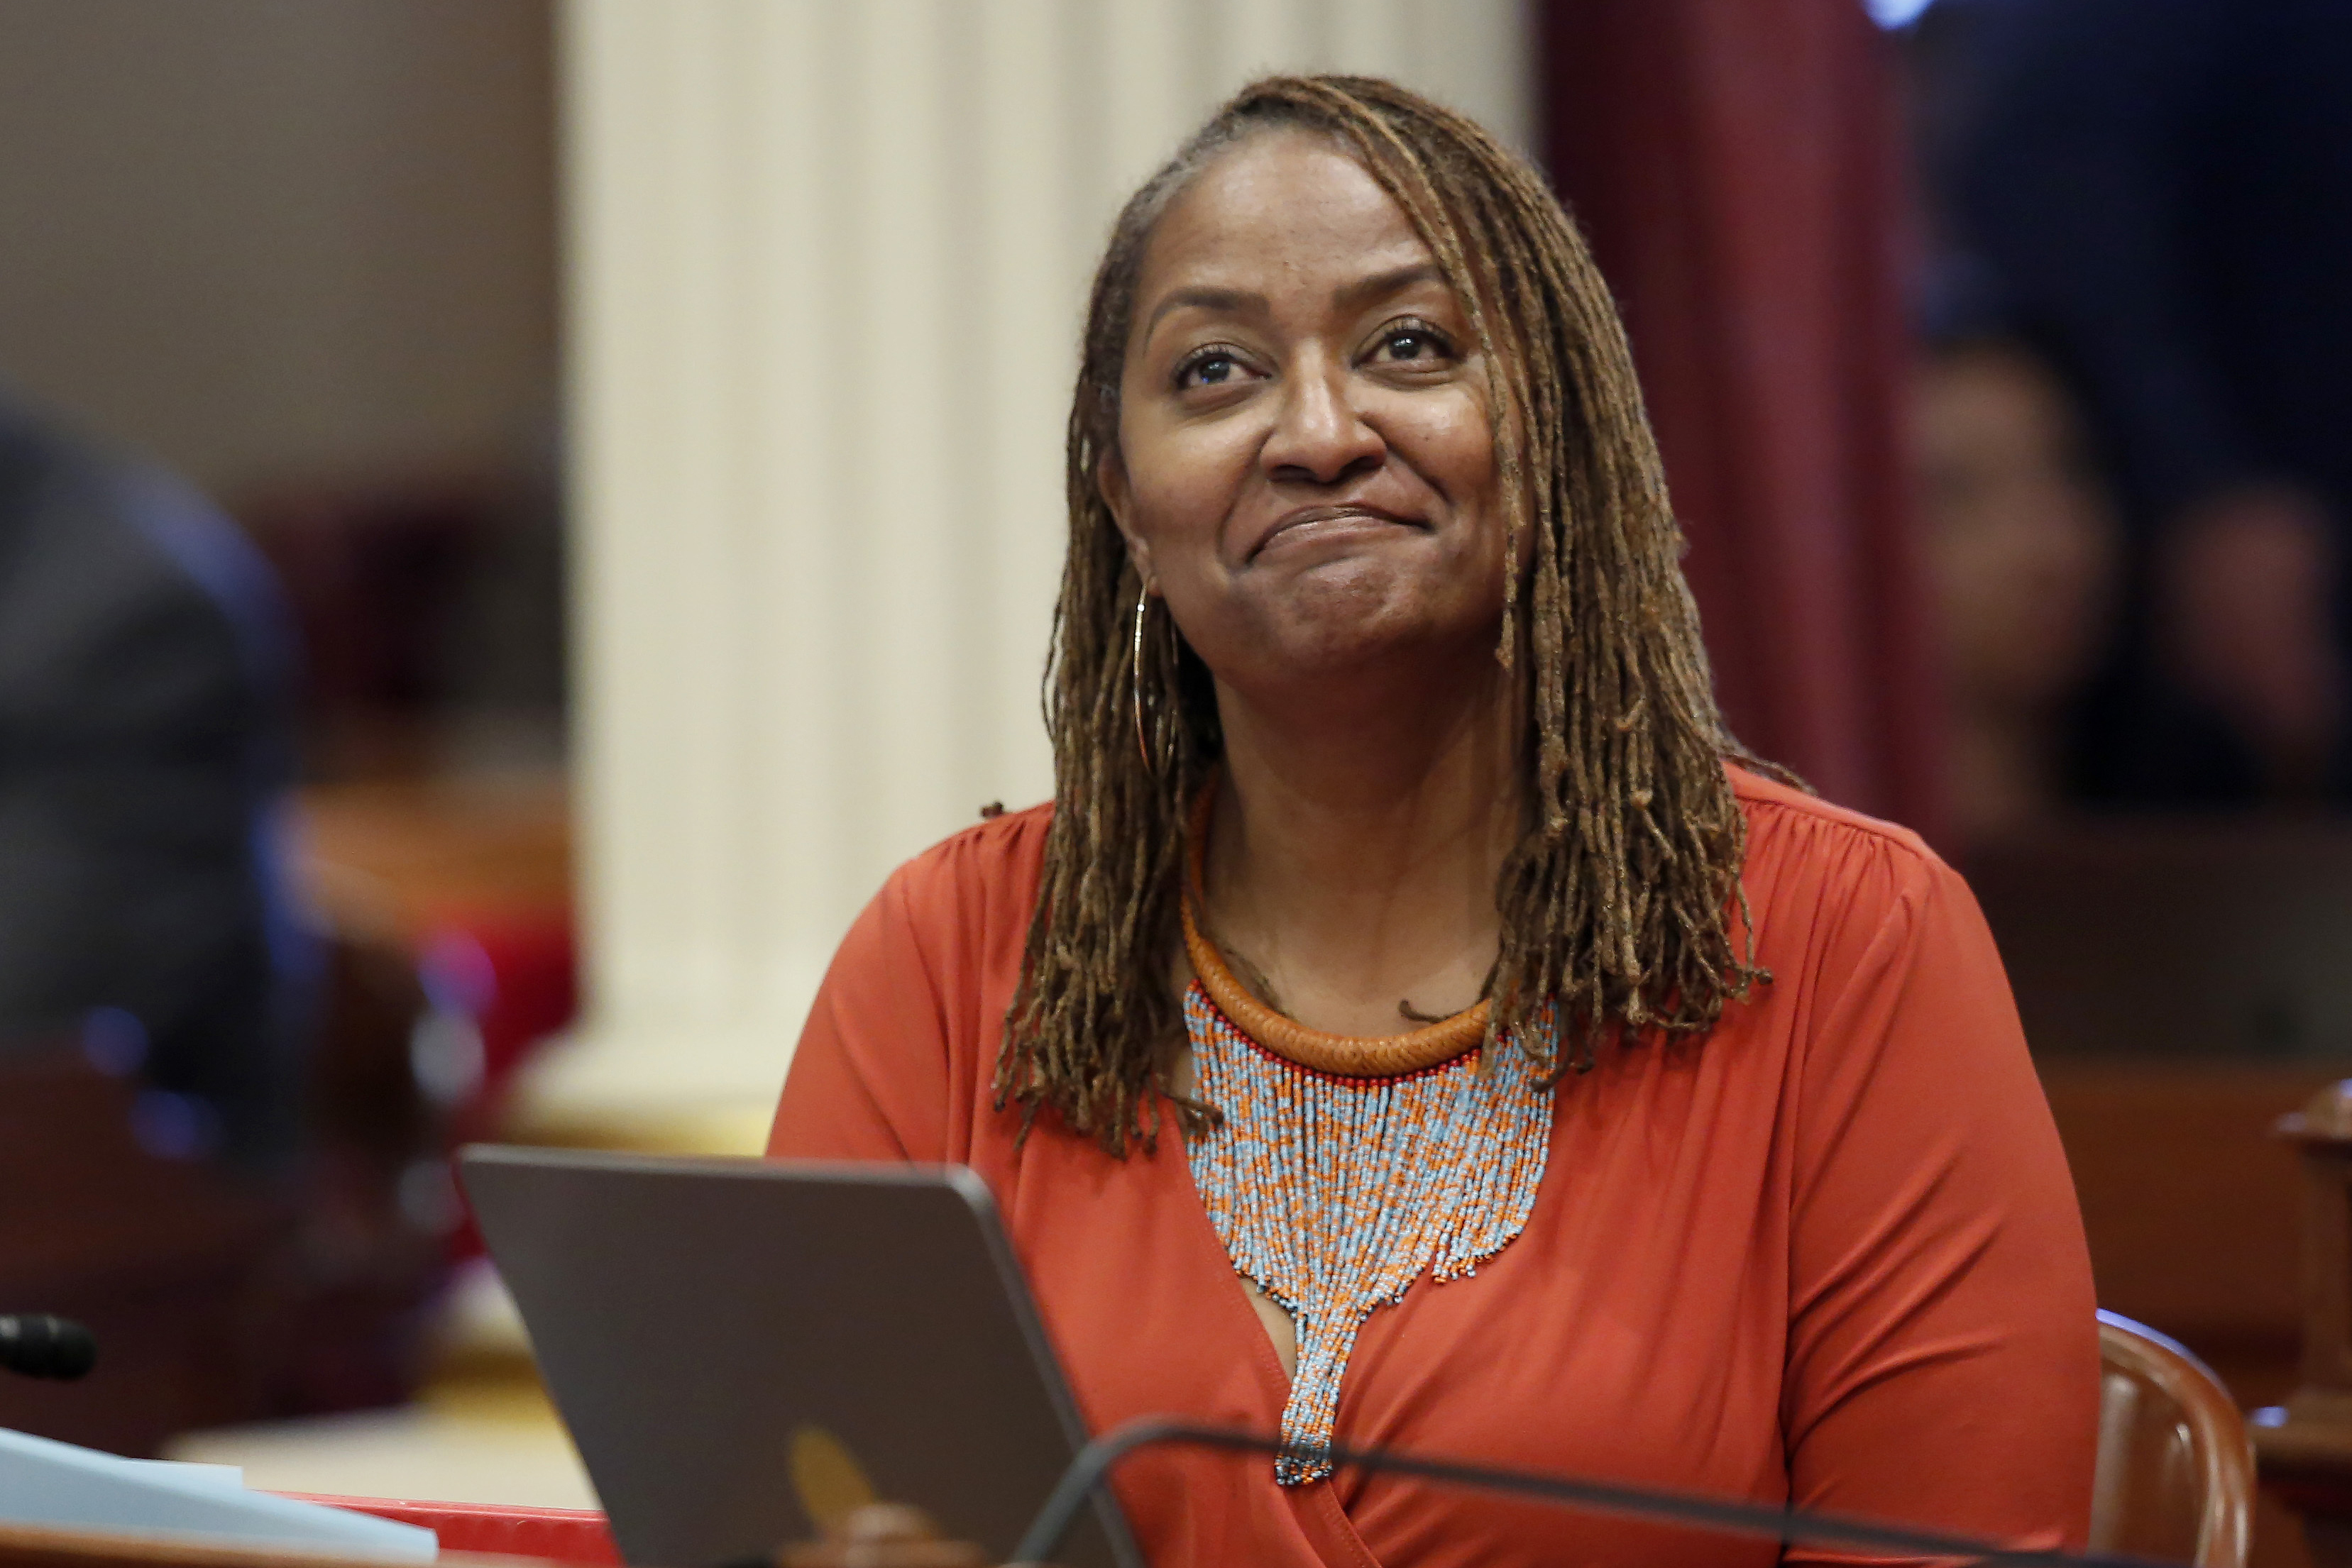
[[[1999,959],[1724,733],[1541,179],[1388,82],[1240,94],[1112,233],[1070,527],[1056,802],[891,877],[771,1152],[978,1168],[1096,1429],[2077,1540],[2091,1284]],[[1162,1566],[1778,1554],[1223,1455],[1120,1495]]]

